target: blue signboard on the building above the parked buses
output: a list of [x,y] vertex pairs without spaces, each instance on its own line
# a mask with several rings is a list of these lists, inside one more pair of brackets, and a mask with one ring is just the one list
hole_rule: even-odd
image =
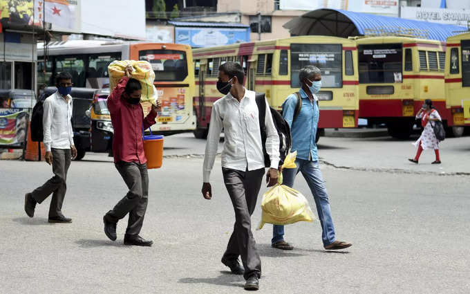
[[194,48],[250,42],[250,28],[175,27],[175,43]]

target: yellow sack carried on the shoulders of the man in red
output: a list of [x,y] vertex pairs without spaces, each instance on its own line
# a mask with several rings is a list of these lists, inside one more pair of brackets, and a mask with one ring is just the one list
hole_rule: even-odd
[[158,94],[155,86],[153,85],[155,73],[153,72],[151,64],[144,60],[115,60],[111,62],[108,66],[110,89],[114,89],[121,77],[124,77],[124,68],[126,68],[128,64],[131,64],[134,68],[134,71],[131,73],[131,77],[139,80],[142,85],[142,96],[140,97],[140,102],[151,102],[151,104],[156,105]]

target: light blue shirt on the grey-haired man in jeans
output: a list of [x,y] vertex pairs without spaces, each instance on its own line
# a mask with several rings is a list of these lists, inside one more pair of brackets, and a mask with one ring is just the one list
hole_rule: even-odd
[[302,98],[302,109],[299,116],[292,122],[297,106],[297,96],[291,94],[282,105],[283,117],[288,122],[292,133],[291,151],[297,151],[297,158],[315,161],[318,160],[315,136],[317,134],[320,111],[317,102],[310,102],[308,95],[303,89],[300,89],[299,92]]

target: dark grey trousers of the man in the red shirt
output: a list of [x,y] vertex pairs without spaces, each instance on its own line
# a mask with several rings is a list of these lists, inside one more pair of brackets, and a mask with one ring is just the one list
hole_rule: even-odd
[[124,179],[129,192],[115,205],[113,210],[106,213],[105,217],[108,221],[117,223],[129,213],[126,235],[138,235],[144,223],[149,199],[147,163],[126,163],[120,161],[115,163],[115,167]]

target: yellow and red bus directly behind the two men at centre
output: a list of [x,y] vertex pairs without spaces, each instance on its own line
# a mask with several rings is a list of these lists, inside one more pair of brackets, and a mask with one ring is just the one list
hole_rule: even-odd
[[212,104],[222,95],[216,89],[218,66],[239,62],[245,69],[245,86],[266,93],[271,107],[281,111],[288,95],[299,91],[299,71],[314,65],[321,69],[320,120],[317,139],[325,128],[357,127],[357,50],[353,40],[301,36],[232,44],[193,50],[196,70],[196,138],[205,138]]

